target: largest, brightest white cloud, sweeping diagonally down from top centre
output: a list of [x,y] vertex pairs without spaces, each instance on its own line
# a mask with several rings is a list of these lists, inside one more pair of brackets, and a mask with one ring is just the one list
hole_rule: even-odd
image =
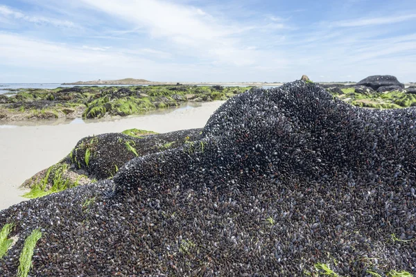
[[[83,0],[119,20],[145,29],[153,39],[164,40],[175,51],[225,64],[249,65],[260,60],[254,48],[246,48],[242,33],[260,26],[240,26],[222,22],[200,8],[166,1]],[[268,29],[281,28],[270,24]],[[167,40],[166,40],[167,39]]]

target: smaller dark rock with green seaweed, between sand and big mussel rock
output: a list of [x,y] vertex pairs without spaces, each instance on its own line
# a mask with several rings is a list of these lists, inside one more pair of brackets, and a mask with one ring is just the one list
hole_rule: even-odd
[[201,129],[188,129],[166,134],[128,129],[122,134],[100,134],[81,139],[67,157],[38,172],[21,185],[31,188],[24,195],[37,198],[68,188],[114,177],[127,161],[146,156],[200,138]]

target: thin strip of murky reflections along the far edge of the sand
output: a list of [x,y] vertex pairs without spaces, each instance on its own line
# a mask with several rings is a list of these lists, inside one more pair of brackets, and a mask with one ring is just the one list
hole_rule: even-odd
[[10,127],[21,127],[21,126],[40,126],[40,125],[61,125],[61,124],[89,124],[89,123],[99,123],[99,122],[112,122],[116,120],[121,120],[123,118],[133,118],[133,117],[142,117],[142,116],[153,116],[153,115],[163,115],[170,113],[177,113],[186,111],[188,109],[193,109],[196,107],[202,107],[202,102],[186,102],[182,103],[179,107],[172,107],[168,109],[155,109],[153,111],[148,111],[144,114],[137,114],[134,116],[114,116],[111,118],[98,118],[98,119],[84,119],[84,118],[57,118],[57,119],[40,119],[40,120],[21,120],[21,121],[0,121],[0,128],[10,128]]

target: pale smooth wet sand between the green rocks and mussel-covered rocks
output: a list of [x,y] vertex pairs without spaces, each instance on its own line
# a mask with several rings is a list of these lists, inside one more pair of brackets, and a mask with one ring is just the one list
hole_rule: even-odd
[[18,187],[40,170],[64,158],[85,136],[147,129],[159,133],[203,127],[224,101],[186,106],[171,111],[155,111],[144,116],[116,120],[79,118],[71,124],[15,126],[0,125],[0,210],[27,200]]

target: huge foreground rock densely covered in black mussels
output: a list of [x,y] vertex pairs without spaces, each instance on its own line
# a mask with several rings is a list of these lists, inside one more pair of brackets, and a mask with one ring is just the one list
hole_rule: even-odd
[[31,276],[414,274],[415,124],[303,81],[253,89],[199,140],[1,211],[0,275],[35,229]]

